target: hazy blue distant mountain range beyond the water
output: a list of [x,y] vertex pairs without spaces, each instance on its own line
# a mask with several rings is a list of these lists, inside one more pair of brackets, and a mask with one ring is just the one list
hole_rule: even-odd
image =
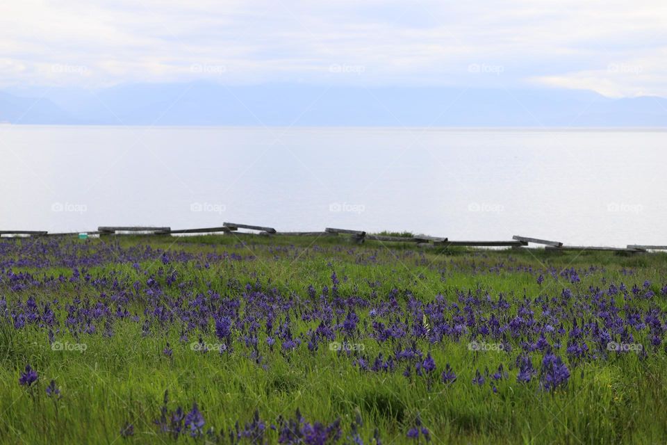
[[12,124],[378,127],[666,127],[667,99],[585,90],[141,83],[6,88]]

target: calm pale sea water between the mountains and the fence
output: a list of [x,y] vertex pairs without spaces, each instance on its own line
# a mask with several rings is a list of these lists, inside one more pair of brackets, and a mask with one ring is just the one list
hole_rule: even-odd
[[667,133],[0,127],[0,227],[269,225],[667,244]]

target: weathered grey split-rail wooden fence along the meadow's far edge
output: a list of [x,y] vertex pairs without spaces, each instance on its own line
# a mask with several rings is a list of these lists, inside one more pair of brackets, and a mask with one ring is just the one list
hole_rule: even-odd
[[[254,232],[238,232],[238,229],[247,229]],[[123,234],[142,235],[172,235],[172,234],[233,234],[233,235],[261,235],[261,236],[340,236],[347,235],[354,243],[365,241],[379,241],[388,243],[411,243],[420,248],[450,248],[450,247],[511,247],[522,248],[529,244],[544,245],[545,250],[550,252],[568,250],[591,250],[608,252],[630,252],[640,253],[650,250],[667,250],[667,245],[638,245],[629,244],[625,248],[612,248],[600,246],[563,245],[560,241],[549,241],[540,238],[529,238],[527,236],[512,236],[507,241],[452,241],[443,236],[388,236],[379,234],[367,234],[363,230],[335,229],[327,227],[324,232],[278,232],[273,227],[259,225],[222,223],[221,227],[203,227],[197,229],[174,229],[171,227],[153,226],[101,226],[94,232],[81,232],[87,235],[115,236]],[[0,230],[2,235],[20,236],[79,236],[80,232],[49,233],[35,230]]]

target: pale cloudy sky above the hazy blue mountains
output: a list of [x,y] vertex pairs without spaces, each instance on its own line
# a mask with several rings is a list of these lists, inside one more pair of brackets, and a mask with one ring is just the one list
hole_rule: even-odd
[[0,4],[0,88],[206,79],[667,97],[665,60],[664,0]]

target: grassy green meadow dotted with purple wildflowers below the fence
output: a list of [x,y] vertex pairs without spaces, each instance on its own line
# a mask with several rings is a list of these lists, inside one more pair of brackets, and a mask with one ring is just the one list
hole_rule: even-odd
[[343,237],[3,238],[0,442],[664,443],[666,271]]

